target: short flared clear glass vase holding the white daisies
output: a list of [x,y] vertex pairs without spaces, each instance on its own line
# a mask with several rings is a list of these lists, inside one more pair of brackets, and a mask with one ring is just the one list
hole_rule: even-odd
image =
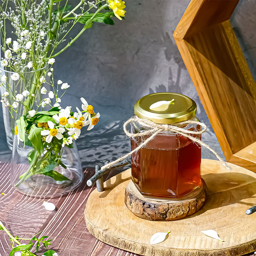
[[14,137],[11,164],[11,183],[20,193],[36,198],[53,198],[76,189],[83,180],[83,171],[76,142],[64,147],[59,165],[52,164],[50,154],[38,155]]

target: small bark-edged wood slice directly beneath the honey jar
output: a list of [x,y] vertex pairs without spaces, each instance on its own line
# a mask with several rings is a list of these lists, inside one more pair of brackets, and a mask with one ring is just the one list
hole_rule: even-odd
[[205,183],[180,199],[149,198],[130,181],[125,188],[125,205],[136,216],[150,221],[175,221],[201,209],[206,199]]

